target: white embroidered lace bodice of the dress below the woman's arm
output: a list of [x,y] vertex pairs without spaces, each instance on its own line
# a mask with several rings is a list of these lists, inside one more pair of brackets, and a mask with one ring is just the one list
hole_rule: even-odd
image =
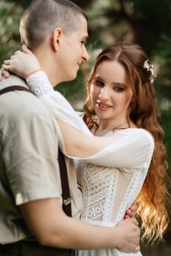
[[[146,176],[145,170],[126,172],[76,160],[77,180],[82,187],[83,221],[116,225],[133,203]],[[124,178],[123,178],[124,177]]]

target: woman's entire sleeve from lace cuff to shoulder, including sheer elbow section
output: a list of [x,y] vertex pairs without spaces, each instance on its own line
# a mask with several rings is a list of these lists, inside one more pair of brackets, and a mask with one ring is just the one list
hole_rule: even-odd
[[[84,159],[96,165],[109,167],[142,167],[149,164],[153,154],[153,138],[142,129],[126,129],[111,137],[91,134],[67,100],[54,91],[45,72],[27,78],[28,86],[50,109],[56,118],[61,151],[70,158]],[[148,161],[146,161],[148,160]]]

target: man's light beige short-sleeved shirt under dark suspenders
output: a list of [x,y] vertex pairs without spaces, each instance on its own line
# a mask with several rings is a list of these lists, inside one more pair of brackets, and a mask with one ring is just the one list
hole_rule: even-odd
[[[13,75],[0,82],[26,86]],[[26,86],[27,87],[27,86]],[[0,244],[32,239],[18,207],[43,198],[61,200],[58,169],[58,132],[50,111],[27,91],[0,95]],[[66,159],[72,216],[79,217],[81,193],[72,160]]]

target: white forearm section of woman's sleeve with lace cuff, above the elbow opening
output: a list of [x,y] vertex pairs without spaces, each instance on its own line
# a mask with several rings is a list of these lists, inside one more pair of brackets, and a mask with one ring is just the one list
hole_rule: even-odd
[[41,70],[28,76],[26,82],[31,91],[50,108],[53,116],[72,127],[80,129],[86,135],[93,136],[79,114],[72,108],[72,105],[62,94],[53,90],[45,72]]

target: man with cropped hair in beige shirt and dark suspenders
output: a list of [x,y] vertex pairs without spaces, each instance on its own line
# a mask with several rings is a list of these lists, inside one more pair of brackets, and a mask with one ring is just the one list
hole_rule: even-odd
[[[87,18],[71,1],[32,1],[21,18],[20,35],[53,86],[75,79],[81,62],[88,60]],[[27,88],[14,75],[0,82],[0,89],[9,86]],[[80,222],[81,195],[69,159],[73,218],[62,211],[58,131],[50,110],[27,91],[2,94],[0,106],[2,254],[72,255],[71,249],[107,247],[137,252],[140,230],[134,219],[113,228]]]

